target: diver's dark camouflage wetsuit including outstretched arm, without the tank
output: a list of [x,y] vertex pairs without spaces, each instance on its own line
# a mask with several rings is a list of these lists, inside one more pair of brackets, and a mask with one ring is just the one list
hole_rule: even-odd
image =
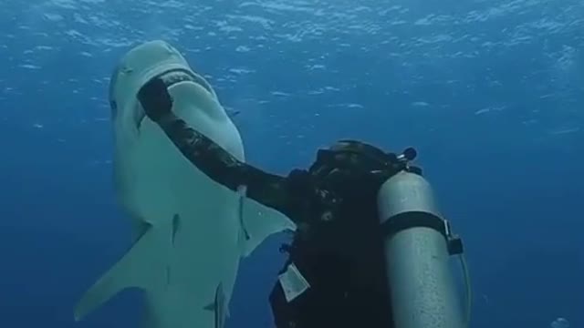
[[[161,79],[141,88],[139,100],[185,158],[231,190],[279,210],[297,224],[289,262],[310,288],[287,302],[276,284],[270,302],[278,328],[388,328],[391,306],[382,260],[377,215],[381,184],[408,167],[395,154],[344,140],[318,150],[308,169],[287,177],[255,169],[232,157],[172,113],[172,98]],[[284,271],[284,270],[283,270]]]

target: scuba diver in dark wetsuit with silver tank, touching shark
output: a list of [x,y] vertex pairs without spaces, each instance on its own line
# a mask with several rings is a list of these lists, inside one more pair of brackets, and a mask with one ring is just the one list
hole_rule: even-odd
[[277,328],[468,324],[448,265],[463,253],[462,241],[436,209],[422,169],[412,165],[414,149],[394,154],[340,140],[319,149],[308,169],[278,176],[190,128],[172,112],[162,78],[141,87],[138,100],[209,178],[234,191],[245,185],[246,197],[297,224],[293,241],[280,249],[288,260],[269,297]]

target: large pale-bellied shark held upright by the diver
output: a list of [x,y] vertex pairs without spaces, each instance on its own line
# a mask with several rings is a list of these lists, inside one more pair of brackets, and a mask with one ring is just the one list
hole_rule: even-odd
[[183,157],[138,101],[153,77],[166,81],[177,116],[245,161],[240,133],[214,88],[175,47],[154,40],[122,56],[110,80],[112,161],[131,246],[81,297],[75,319],[138,288],[143,328],[224,328],[240,261],[296,225],[247,198],[245,186],[230,190]]

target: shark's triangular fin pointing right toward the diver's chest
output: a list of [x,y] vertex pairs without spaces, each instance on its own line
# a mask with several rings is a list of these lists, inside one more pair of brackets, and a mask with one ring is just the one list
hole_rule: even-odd
[[296,224],[283,213],[259,202],[243,198],[242,203],[243,255],[247,256],[269,235],[281,231],[296,231]]

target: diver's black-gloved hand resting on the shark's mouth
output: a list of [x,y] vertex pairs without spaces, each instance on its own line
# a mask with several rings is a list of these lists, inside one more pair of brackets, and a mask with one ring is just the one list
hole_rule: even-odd
[[154,122],[158,122],[172,109],[172,97],[159,77],[152,78],[144,87],[141,87],[138,100],[146,116]]

